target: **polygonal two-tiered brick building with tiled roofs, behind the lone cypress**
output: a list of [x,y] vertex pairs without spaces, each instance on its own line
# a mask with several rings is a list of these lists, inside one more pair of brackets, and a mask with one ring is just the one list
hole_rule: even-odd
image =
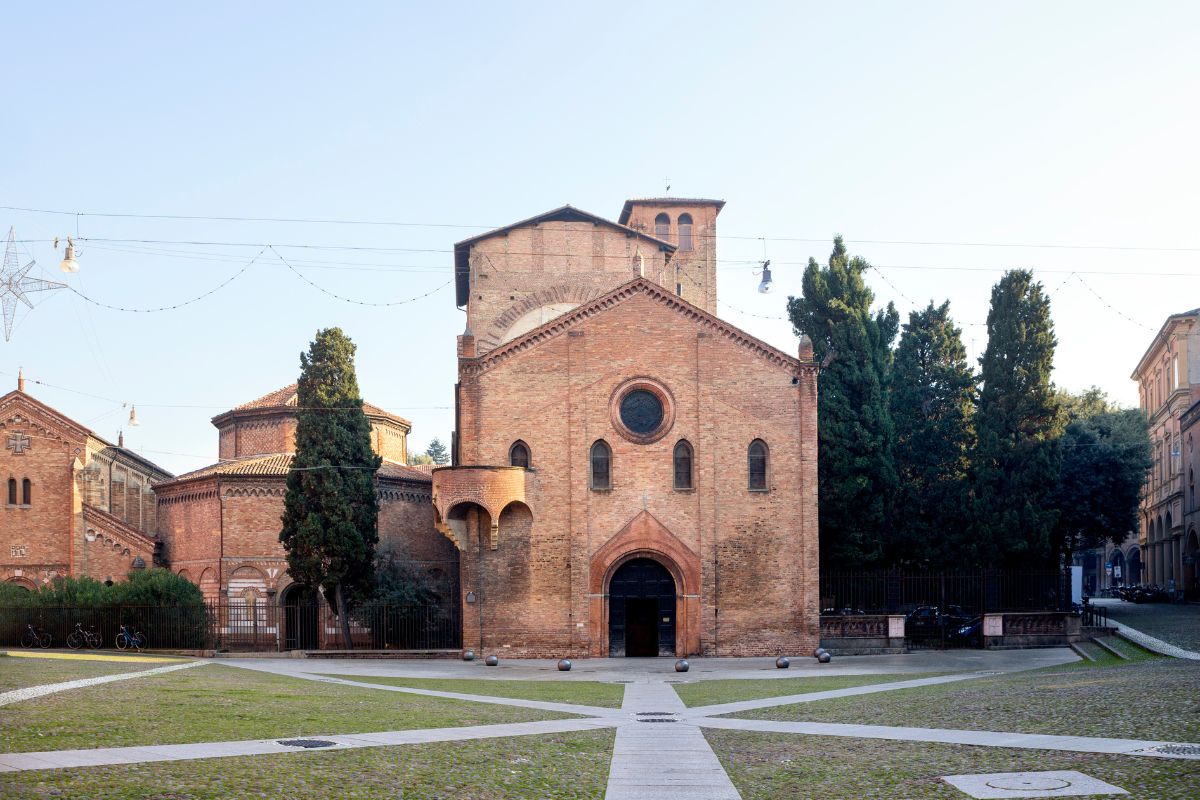
[[[407,420],[364,403],[374,451],[380,558],[420,572],[428,588],[456,603],[458,557],[433,528],[430,473],[408,467]],[[280,543],[283,495],[295,452],[296,386],[286,386],[212,417],[221,461],[156,487],[162,558],[223,606],[274,626],[275,604],[318,602],[293,583]],[[301,599],[299,595],[304,595]],[[245,614],[242,614],[245,618]],[[316,624],[316,616],[308,618]],[[270,632],[270,631],[268,631]],[[282,646],[314,646],[316,634],[280,631]]]

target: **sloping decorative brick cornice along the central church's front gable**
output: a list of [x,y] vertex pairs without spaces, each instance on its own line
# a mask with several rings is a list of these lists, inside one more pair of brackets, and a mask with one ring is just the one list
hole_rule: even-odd
[[548,323],[533,329],[528,333],[523,333],[510,342],[505,342],[499,347],[488,350],[486,354],[475,360],[474,363],[468,363],[464,366],[464,372],[468,373],[481,373],[487,372],[502,361],[527,350],[539,343],[554,338],[562,333],[565,333],[576,325],[583,323],[584,320],[596,315],[602,314],[610,308],[623,303],[630,297],[636,297],[646,295],[652,300],[655,300],[660,305],[670,308],[671,311],[688,318],[691,321],[697,321],[704,327],[707,327],[713,333],[722,336],[727,339],[736,342],[737,344],[745,347],[755,351],[761,357],[767,361],[782,367],[784,369],[796,372],[802,367],[811,367],[811,363],[803,362],[796,356],[788,355],[780,350],[779,348],[767,344],[760,338],[750,336],[740,327],[736,327],[720,319],[709,314],[703,308],[694,306],[683,297],[666,290],[658,283],[648,278],[634,278],[629,283],[625,283],[607,294],[602,294],[595,300],[586,302],[577,308],[566,312],[562,317],[557,317]]

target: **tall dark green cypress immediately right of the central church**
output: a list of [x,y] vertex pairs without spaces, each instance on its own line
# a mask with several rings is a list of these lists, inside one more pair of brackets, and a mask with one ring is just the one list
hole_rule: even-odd
[[888,380],[900,317],[892,303],[871,311],[875,295],[863,281],[869,269],[839,236],[827,266],[809,259],[803,296],[787,299],[797,335],[812,339],[823,363],[817,492],[821,563],[833,569],[880,561],[896,486]]

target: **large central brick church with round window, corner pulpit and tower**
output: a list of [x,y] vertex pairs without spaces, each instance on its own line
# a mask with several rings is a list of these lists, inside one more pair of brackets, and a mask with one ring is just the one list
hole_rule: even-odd
[[772,655],[818,642],[816,365],[715,315],[724,204],[564,206],[460,242],[463,645]]

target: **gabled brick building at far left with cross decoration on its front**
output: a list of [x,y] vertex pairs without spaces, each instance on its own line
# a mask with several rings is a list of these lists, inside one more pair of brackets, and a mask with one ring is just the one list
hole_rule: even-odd
[[156,555],[154,489],[170,473],[25,392],[0,397],[0,581],[122,581]]

